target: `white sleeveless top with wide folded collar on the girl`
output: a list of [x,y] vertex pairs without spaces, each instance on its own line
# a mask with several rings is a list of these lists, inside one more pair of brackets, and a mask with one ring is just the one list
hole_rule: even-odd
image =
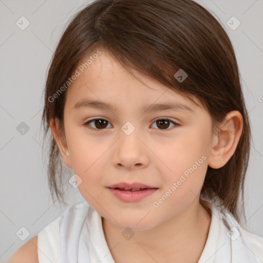
[[[211,224],[198,263],[262,263],[263,238],[207,203]],[[115,263],[105,240],[102,217],[85,200],[67,208],[37,237],[39,263]]]

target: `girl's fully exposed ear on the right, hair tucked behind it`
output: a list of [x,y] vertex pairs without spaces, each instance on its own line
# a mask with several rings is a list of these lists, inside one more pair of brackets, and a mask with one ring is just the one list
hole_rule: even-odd
[[208,165],[218,169],[224,166],[234,155],[243,129],[243,118],[239,111],[228,112],[220,125],[219,132],[213,135],[212,149]]

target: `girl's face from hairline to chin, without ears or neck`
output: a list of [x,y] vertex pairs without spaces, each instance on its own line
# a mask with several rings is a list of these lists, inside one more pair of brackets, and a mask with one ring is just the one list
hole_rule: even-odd
[[[116,227],[133,230],[153,228],[199,205],[212,147],[208,112],[156,81],[140,78],[151,88],[102,52],[69,86],[64,109],[63,157],[82,179],[80,193]],[[74,108],[82,100],[108,103],[118,110]],[[187,105],[193,112],[142,109],[168,103]],[[92,130],[84,125],[91,119],[107,122],[92,121]],[[165,123],[167,119],[171,122]],[[139,201],[123,201],[108,189],[120,182],[157,190]]]

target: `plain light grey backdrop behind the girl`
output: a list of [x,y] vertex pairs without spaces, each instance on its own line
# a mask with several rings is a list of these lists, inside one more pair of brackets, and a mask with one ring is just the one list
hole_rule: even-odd
[[[243,223],[263,236],[263,1],[197,2],[220,20],[236,52],[254,141],[245,189],[248,220]],[[47,164],[42,156],[47,145],[40,126],[42,92],[59,37],[69,18],[86,4],[83,0],[0,0],[0,261],[7,260],[66,208],[52,202],[48,189]],[[16,25],[21,16],[30,22],[25,30]],[[232,16],[241,22],[235,30],[227,25]],[[24,135],[16,129],[21,122],[29,126]],[[78,189],[69,186],[69,204],[83,200]],[[30,232],[25,241],[16,236],[21,227]]]

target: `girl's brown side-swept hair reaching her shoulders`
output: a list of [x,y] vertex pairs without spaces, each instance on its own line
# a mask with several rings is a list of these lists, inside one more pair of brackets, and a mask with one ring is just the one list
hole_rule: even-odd
[[[200,196],[217,200],[240,222],[245,214],[243,189],[251,130],[234,49],[216,18],[191,0],[97,0],[86,6],[72,18],[52,57],[42,116],[44,137],[52,119],[59,120],[64,135],[67,89],[52,102],[50,98],[96,49],[108,52],[130,73],[138,70],[187,98],[199,99],[212,117],[213,132],[229,111],[240,111],[243,130],[236,151],[223,167],[208,167]],[[188,76],[181,83],[174,77],[179,69]],[[63,200],[65,175],[52,134],[49,142],[49,187],[53,200],[54,194]]]

